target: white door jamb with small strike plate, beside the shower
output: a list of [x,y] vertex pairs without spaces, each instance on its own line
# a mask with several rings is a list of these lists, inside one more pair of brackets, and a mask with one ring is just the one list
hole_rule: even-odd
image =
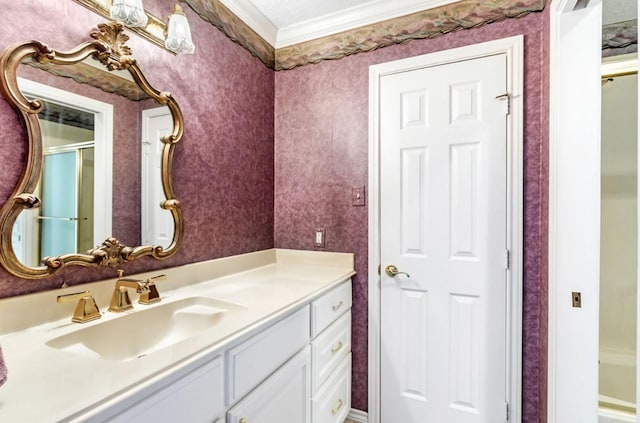
[[547,420],[596,422],[602,3],[550,8]]

